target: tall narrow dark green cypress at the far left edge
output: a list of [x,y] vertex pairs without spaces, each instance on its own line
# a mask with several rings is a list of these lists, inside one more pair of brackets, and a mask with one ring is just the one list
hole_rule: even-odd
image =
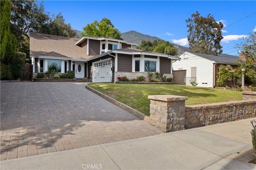
[[10,1],[1,1],[1,61],[5,57],[10,57],[16,52],[17,40],[10,30],[11,21],[11,3]]

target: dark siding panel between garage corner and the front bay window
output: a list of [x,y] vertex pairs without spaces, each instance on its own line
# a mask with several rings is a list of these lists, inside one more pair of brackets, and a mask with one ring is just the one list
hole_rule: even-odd
[[118,54],[117,71],[132,72],[132,55]]

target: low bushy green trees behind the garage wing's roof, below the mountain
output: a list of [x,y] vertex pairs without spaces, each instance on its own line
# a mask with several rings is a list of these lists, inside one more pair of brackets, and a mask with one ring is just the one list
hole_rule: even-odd
[[178,54],[178,49],[175,48],[169,41],[164,40],[141,41],[140,46],[137,48],[167,55]]

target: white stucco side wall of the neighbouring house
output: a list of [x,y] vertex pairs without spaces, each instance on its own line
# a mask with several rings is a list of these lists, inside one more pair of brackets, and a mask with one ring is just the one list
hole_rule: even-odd
[[187,70],[186,85],[191,86],[189,83],[189,78],[191,77],[191,67],[196,67],[196,80],[198,82],[198,87],[213,87],[212,61],[190,53],[185,53],[185,55],[181,55],[179,57],[181,60],[174,62],[172,66],[173,70]]

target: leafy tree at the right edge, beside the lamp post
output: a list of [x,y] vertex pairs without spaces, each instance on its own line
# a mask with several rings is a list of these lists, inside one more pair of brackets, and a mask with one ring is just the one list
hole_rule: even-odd
[[250,33],[236,48],[240,51],[240,60],[237,62],[239,74],[241,75],[241,69],[244,68],[245,81],[256,84],[256,32]]

